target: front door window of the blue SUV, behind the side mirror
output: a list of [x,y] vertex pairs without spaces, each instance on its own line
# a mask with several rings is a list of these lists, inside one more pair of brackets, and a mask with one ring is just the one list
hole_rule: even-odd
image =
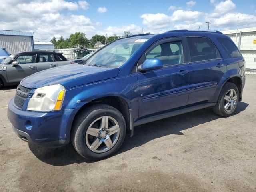
[[166,42],[153,48],[147,55],[148,58],[158,58],[163,66],[183,63],[182,41]]

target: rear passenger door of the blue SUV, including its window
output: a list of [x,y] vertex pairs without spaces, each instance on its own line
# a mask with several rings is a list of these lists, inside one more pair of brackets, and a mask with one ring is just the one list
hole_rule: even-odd
[[217,84],[227,71],[214,43],[206,37],[186,37],[190,53],[188,104],[213,102]]

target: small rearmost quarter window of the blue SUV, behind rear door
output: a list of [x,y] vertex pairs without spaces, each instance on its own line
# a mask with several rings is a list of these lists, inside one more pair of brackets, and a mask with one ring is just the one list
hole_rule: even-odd
[[224,49],[231,58],[241,56],[239,50],[236,48],[235,44],[231,40],[226,38],[217,38],[217,40],[224,47]]

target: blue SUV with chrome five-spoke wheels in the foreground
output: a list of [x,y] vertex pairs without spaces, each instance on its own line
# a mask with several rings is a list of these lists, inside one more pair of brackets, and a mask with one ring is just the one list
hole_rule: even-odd
[[24,78],[8,106],[24,141],[72,142],[89,160],[120,148],[134,126],[213,107],[230,116],[242,100],[245,61],[218,31],[175,30],[109,43],[82,64]]

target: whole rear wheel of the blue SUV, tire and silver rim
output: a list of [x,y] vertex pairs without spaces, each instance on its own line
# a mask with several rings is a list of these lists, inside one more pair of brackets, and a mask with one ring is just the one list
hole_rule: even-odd
[[233,114],[239,102],[239,91],[234,83],[226,83],[219,95],[216,105],[213,107],[217,115],[227,117]]

